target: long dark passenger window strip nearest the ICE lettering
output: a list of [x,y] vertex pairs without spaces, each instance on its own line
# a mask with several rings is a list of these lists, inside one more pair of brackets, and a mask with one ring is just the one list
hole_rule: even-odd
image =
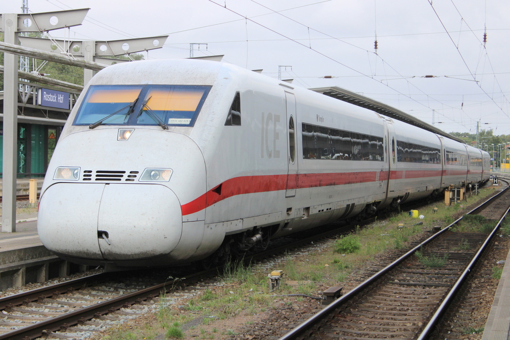
[[301,124],[303,159],[384,161],[382,137]]

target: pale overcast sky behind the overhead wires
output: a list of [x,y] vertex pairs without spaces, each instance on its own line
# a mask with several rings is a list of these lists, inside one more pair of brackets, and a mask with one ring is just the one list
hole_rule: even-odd
[[[432,4],[430,3],[432,2]],[[169,35],[149,59],[224,61],[305,88],[338,86],[446,132],[510,134],[508,0],[28,0],[31,13],[90,8],[54,37]],[[4,0],[0,13],[21,13]],[[487,28],[487,43],[483,43]],[[377,54],[374,40],[377,36]],[[433,77],[425,77],[426,75]],[[324,78],[324,76],[330,76]],[[510,141],[509,141],[510,142]]]

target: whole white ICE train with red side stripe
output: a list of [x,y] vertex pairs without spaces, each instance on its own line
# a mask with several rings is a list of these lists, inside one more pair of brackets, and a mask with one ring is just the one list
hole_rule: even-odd
[[489,154],[227,63],[137,61],[85,87],[41,191],[38,232],[107,268],[213,253],[489,178]]

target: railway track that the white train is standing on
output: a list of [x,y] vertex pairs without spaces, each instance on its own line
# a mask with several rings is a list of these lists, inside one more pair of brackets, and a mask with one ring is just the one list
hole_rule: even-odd
[[[348,226],[341,226],[297,242],[271,246],[270,250],[258,252],[245,260],[249,262],[271,257],[277,252],[285,252],[317,239],[346,233],[347,229]],[[188,273],[184,280],[163,278],[161,282],[150,285],[147,282],[126,284],[125,281],[133,280],[119,278],[118,273],[103,273],[0,298],[0,340],[33,339],[60,330],[83,331],[87,326],[97,326],[99,321],[92,319],[100,319],[123,307],[154,305],[155,297],[162,292],[170,293],[176,285],[189,285],[200,278],[217,274],[218,268],[213,268]]]

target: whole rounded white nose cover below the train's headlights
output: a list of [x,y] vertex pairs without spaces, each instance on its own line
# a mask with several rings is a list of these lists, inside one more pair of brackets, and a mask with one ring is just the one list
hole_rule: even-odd
[[181,205],[161,185],[58,183],[41,198],[38,232],[61,255],[143,260],[168,254],[179,243]]

